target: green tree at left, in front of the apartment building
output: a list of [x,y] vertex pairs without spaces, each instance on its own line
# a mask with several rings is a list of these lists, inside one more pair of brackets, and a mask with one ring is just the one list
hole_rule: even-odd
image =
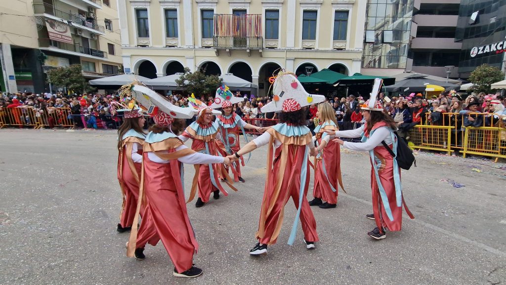
[[48,71],[49,82],[56,87],[66,87],[74,92],[88,93],[95,91],[82,75],[80,64],[72,64],[68,67],[54,68]]

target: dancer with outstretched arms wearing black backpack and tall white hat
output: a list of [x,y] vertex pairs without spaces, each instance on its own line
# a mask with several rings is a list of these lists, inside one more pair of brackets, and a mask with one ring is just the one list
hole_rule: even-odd
[[383,111],[381,102],[376,96],[381,87],[382,80],[375,79],[371,98],[361,106],[365,124],[359,129],[348,131],[325,131],[335,137],[358,138],[362,142],[345,142],[339,138],[333,139],[340,145],[359,151],[368,151],[371,161],[371,190],[373,215],[367,218],[376,221],[376,228],[367,234],[374,239],[387,237],[386,229],[400,231],[402,226],[402,206],[408,216],[414,219],[406,207],[401,189],[400,169],[397,160],[390,154],[388,147],[397,154],[397,137],[394,134],[396,123],[391,116]]

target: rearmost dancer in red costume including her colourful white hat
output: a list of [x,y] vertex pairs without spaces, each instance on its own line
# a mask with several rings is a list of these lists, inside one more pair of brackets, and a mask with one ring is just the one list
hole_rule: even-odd
[[[239,130],[242,131],[242,135],[247,142],[247,136],[244,132],[244,129],[254,129],[258,132],[262,133],[262,128],[247,124],[241,117],[239,117],[232,110],[232,105],[242,102],[244,98],[235,97],[232,92],[230,92],[228,86],[223,85],[220,86],[216,90],[215,102],[211,105],[211,108],[222,108],[223,113],[216,117],[216,123],[220,125],[220,132],[222,137],[222,142],[225,145],[225,149],[227,154],[232,154],[238,151],[240,146],[239,141]],[[234,181],[244,183],[244,179],[241,177],[241,168],[240,166],[244,166],[244,157],[241,156],[236,164],[233,164],[231,168],[233,168]],[[228,169],[227,169],[228,172]]]

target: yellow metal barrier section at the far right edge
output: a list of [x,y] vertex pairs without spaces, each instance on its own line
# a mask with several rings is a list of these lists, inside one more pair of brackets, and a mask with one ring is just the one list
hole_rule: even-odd
[[467,127],[464,136],[464,149],[460,151],[463,157],[476,154],[499,158],[506,158],[506,129],[494,127]]

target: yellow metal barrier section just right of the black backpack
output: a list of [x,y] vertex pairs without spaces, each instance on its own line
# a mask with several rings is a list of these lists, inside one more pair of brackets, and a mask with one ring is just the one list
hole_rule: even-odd
[[446,151],[451,154],[450,134],[452,127],[416,125],[409,131],[413,148]]

